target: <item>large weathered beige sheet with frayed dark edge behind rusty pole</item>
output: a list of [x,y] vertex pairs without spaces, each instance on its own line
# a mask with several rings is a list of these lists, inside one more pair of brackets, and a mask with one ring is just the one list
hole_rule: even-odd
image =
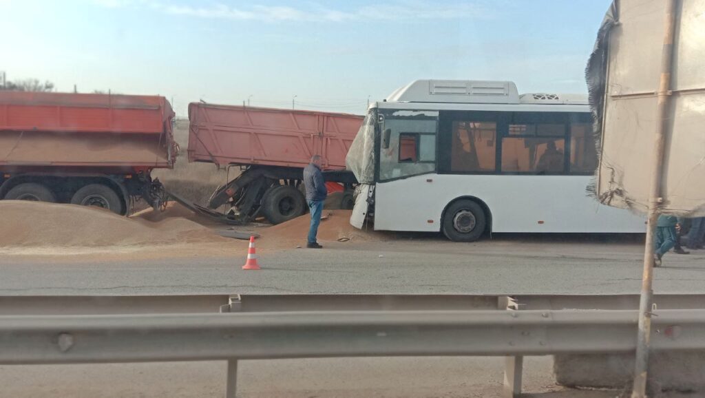
[[[591,191],[603,204],[637,212],[649,204],[665,13],[666,1],[614,1],[586,71],[600,154]],[[681,0],[663,167],[666,214],[705,215],[703,26],[705,0]]]

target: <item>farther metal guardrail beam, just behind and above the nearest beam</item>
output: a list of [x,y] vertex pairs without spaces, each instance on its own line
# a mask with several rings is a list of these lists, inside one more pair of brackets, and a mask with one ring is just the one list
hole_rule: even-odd
[[[639,308],[638,294],[194,294],[171,296],[0,296],[0,315],[269,312],[302,310],[519,310]],[[657,294],[659,309],[705,308],[705,294]]]

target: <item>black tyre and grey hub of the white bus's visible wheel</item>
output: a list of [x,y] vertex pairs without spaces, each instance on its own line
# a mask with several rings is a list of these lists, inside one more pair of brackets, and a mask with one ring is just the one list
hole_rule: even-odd
[[472,200],[458,200],[448,206],[441,230],[454,242],[473,242],[482,236],[487,217],[482,207]]

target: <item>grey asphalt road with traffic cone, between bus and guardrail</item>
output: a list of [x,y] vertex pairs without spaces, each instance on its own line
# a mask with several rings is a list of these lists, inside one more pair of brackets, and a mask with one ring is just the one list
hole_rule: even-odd
[[[616,240],[616,241],[615,241]],[[327,243],[211,257],[82,260],[0,256],[0,294],[618,294],[639,293],[642,243],[634,239],[503,236],[451,243],[436,237]],[[657,293],[705,291],[705,251],[668,253]]]

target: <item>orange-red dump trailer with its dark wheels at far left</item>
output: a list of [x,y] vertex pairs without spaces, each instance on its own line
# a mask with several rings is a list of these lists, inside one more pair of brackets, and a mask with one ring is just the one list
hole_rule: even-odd
[[150,171],[173,167],[173,117],[164,97],[0,91],[0,199],[159,207]]

